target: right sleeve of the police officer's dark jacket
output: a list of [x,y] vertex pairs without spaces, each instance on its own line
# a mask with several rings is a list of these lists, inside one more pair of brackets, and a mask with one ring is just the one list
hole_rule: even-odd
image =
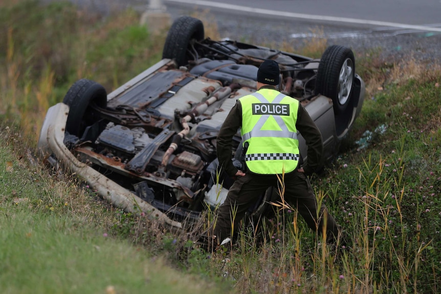
[[299,105],[296,128],[306,142],[308,151],[306,164],[303,165],[303,170],[309,175],[315,172],[320,164],[323,153],[323,142],[320,130],[317,128],[308,112],[301,105]]

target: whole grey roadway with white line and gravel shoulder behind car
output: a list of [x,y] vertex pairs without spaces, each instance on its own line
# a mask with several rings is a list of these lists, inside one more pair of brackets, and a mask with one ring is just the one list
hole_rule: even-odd
[[[57,0],[41,0],[43,2]],[[441,62],[441,0],[70,0],[107,14],[159,5],[172,19],[204,11],[223,38],[258,43],[290,42],[293,50],[312,37],[356,52],[374,50],[385,60],[413,57]]]

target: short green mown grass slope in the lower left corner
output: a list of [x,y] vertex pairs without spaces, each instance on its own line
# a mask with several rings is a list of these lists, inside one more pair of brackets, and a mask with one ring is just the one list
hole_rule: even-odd
[[42,183],[47,175],[30,171],[11,146],[0,147],[0,166],[2,293],[220,292],[80,218],[68,196],[53,193],[51,180]]

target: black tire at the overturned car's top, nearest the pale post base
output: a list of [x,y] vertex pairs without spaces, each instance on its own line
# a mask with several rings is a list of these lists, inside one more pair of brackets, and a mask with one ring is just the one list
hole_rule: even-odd
[[186,65],[188,60],[192,59],[187,49],[193,39],[196,41],[204,39],[204,24],[194,17],[179,17],[168,31],[162,58],[174,59],[178,66]]

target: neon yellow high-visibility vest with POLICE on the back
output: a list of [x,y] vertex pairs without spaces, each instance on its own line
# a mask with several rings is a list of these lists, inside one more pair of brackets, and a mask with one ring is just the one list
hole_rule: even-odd
[[248,169],[257,174],[293,171],[300,158],[296,129],[299,101],[275,89],[260,89],[239,102]]

